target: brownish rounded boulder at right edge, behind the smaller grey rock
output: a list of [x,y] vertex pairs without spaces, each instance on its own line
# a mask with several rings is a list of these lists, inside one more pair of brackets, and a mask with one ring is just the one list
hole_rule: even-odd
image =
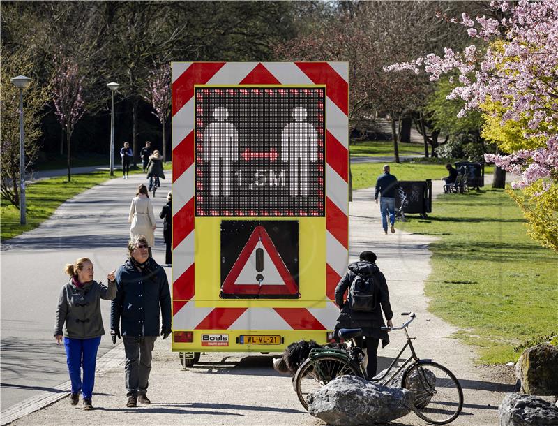
[[521,391],[529,395],[558,395],[558,347],[540,344],[527,348],[515,365]]

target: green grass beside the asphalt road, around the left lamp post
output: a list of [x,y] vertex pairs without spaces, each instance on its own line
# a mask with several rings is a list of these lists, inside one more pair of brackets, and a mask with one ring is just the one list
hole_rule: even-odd
[[[141,173],[142,170],[130,171],[130,174]],[[16,237],[28,230],[39,226],[47,220],[64,201],[77,196],[85,191],[105,182],[108,179],[121,179],[121,172],[116,172],[110,177],[108,172],[92,172],[83,175],[72,175],[72,182],[68,182],[66,176],[51,177],[40,180],[27,186],[25,191],[27,204],[27,224],[20,225],[20,210],[10,205],[6,200],[1,200],[1,240]]]

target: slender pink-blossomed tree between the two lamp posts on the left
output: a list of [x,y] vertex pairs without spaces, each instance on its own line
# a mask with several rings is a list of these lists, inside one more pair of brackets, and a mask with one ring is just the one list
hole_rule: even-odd
[[52,75],[52,94],[54,113],[66,131],[66,147],[68,151],[68,182],[71,181],[70,138],[75,124],[82,117],[84,101],[82,98],[83,76],[80,76],[77,62],[73,61],[60,50],[55,59]]

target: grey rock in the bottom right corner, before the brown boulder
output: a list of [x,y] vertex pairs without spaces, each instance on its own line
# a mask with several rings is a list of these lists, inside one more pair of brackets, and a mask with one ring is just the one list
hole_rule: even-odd
[[498,415],[500,426],[558,426],[558,407],[533,395],[508,393]]

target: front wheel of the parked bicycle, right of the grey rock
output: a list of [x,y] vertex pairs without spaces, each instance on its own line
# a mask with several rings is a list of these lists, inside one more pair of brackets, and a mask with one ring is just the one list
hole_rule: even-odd
[[403,388],[414,393],[411,408],[416,415],[435,425],[453,422],[463,407],[463,391],[458,379],[436,362],[418,362],[402,379]]

